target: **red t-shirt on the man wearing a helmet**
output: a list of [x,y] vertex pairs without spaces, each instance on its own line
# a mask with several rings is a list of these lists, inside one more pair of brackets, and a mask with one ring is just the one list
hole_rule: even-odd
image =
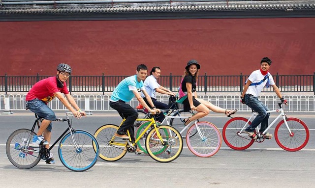
[[57,87],[57,78],[49,77],[47,79],[38,81],[32,86],[31,90],[26,95],[26,101],[39,99],[45,103],[48,103],[56,97],[54,93],[57,92],[68,94],[69,91],[66,83],[64,83],[63,88],[59,88]]

